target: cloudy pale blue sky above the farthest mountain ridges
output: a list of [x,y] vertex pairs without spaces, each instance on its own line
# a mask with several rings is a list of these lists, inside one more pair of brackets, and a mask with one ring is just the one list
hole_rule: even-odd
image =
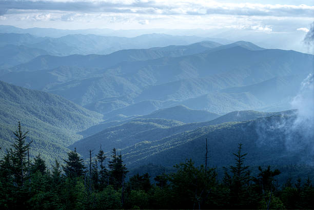
[[313,0],[0,0],[0,25],[58,29],[308,32]]

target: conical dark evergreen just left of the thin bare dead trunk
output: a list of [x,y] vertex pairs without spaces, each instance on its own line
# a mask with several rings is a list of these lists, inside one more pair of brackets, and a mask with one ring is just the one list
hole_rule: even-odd
[[76,149],[70,151],[68,153],[68,160],[64,161],[66,162],[66,165],[62,167],[67,177],[82,177],[85,174],[84,170],[86,167],[83,164],[84,160],[78,156]]

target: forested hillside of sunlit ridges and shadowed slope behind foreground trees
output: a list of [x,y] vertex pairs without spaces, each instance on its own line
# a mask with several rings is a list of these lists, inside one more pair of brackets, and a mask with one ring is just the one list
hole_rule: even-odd
[[[300,163],[302,156],[298,153],[292,156],[286,149],[285,132],[292,126],[295,118],[295,111],[237,111],[211,121],[166,126],[163,123],[168,120],[135,118],[107,128],[104,123],[103,131],[75,142],[70,148],[76,148],[84,158],[88,158],[86,148],[92,150],[102,145],[103,150],[109,153],[114,146],[122,152],[126,163],[131,167],[147,163],[171,166],[189,157],[201,164],[207,138],[213,165],[229,164],[230,157],[221,157],[220,154],[228,153],[238,142],[245,143],[256,155],[252,158],[256,162],[252,164],[279,164],[280,161]],[[100,129],[100,125],[96,127]],[[293,135],[298,132],[301,131],[295,131]],[[90,135],[92,131],[88,129],[86,133]],[[273,152],[275,154],[270,156]],[[262,155],[271,158],[267,159]]]

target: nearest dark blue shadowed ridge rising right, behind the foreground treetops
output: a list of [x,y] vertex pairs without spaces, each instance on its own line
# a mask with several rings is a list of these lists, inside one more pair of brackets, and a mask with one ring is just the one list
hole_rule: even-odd
[[[186,158],[192,158],[197,164],[202,164],[207,138],[210,165],[216,167],[233,162],[232,153],[237,151],[238,143],[243,143],[243,152],[248,153],[247,165],[312,162],[312,146],[305,143],[309,141],[302,135],[302,130],[290,130],[294,119],[293,116],[274,115],[246,122],[209,125],[160,140],[139,142],[122,149],[121,152],[129,167],[150,162],[171,166]],[[299,141],[295,142],[295,138],[299,138]]]

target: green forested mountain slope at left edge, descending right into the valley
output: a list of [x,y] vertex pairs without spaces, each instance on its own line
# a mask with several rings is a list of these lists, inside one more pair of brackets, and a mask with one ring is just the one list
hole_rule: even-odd
[[[102,115],[86,110],[60,96],[29,90],[0,81],[0,147],[9,149],[11,131],[21,121],[23,131],[33,140],[30,154],[41,153],[49,162],[62,159],[66,146],[81,138],[76,134],[100,122]],[[0,151],[1,155],[4,150]]]

